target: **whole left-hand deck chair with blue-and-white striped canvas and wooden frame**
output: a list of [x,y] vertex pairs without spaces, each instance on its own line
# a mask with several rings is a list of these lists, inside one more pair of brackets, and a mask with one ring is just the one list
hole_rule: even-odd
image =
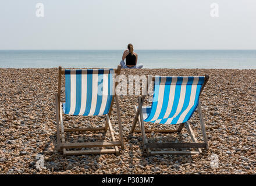
[[[91,153],[116,153],[119,154],[118,146],[123,146],[123,133],[120,119],[119,98],[115,94],[114,75],[119,75],[121,66],[118,69],[83,69],[83,70],[62,70],[59,67],[58,93],[56,93],[56,123],[57,123],[57,149],[63,150],[63,155],[81,155]],[[65,97],[66,102],[61,103],[61,77],[65,74]],[[115,98],[116,113],[119,124],[119,141],[115,140],[110,117]],[[72,116],[105,116],[104,127],[91,128],[64,128],[62,110],[65,115]],[[100,142],[65,142],[65,133],[105,131],[109,130],[112,141]],[[105,148],[105,147],[109,148]],[[112,146],[112,148],[111,148]],[[95,149],[95,147],[97,147]],[[89,148],[84,150],[81,148]],[[94,149],[90,149],[94,148]],[[70,150],[75,149],[75,150]]]

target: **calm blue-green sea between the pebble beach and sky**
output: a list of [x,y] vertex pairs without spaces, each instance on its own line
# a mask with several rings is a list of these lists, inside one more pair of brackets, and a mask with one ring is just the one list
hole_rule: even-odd
[[[137,50],[144,68],[256,69],[256,50]],[[0,68],[116,67],[121,50],[0,50]]]

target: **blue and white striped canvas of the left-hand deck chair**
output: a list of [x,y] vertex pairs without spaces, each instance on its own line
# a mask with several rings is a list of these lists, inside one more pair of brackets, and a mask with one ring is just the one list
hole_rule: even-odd
[[113,69],[65,70],[67,115],[99,116],[109,112],[115,85]]

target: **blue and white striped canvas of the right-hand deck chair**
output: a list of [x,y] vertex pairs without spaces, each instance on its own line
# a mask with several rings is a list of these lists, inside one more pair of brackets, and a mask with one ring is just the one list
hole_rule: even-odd
[[144,121],[179,124],[190,119],[198,105],[205,77],[155,77],[151,108],[143,107]]

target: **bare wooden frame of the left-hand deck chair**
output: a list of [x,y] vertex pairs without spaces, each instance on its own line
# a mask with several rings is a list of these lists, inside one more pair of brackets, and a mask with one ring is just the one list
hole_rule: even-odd
[[[120,74],[121,66],[118,65],[117,69],[114,69],[115,77]],[[121,124],[121,117],[120,117],[120,108],[119,108],[119,96],[115,94],[111,101],[111,106],[109,109],[109,113],[105,115],[106,123],[105,127],[98,127],[98,128],[64,128],[63,126],[63,116],[62,116],[62,106],[61,106],[61,77],[65,74],[65,70],[62,70],[62,67],[59,67],[59,80],[58,80],[58,92],[55,94],[56,100],[56,134],[57,134],[57,149],[58,151],[63,150],[63,155],[83,155],[83,154],[93,154],[93,153],[116,153],[119,155],[118,146],[124,148],[123,144],[123,132],[122,132],[122,124]],[[118,83],[115,82],[115,88]],[[115,90],[115,89],[114,89]],[[116,141],[112,124],[111,124],[111,113],[112,113],[112,106],[113,101],[115,99],[116,102],[116,113],[118,116],[118,125],[119,125],[119,137],[120,141]],[[76,142],[76,143],[69,143],[65,141],[65,133],[69,132],[86,132],[86,131],[109,131],[112,141],[111,142]],[[106,146],[113,146],[111,149],[102,149],[102,147]],[[86,151],[66,151],[66,149],[71,148],[93,148],[99,147],[101,149],[91,149]]]

